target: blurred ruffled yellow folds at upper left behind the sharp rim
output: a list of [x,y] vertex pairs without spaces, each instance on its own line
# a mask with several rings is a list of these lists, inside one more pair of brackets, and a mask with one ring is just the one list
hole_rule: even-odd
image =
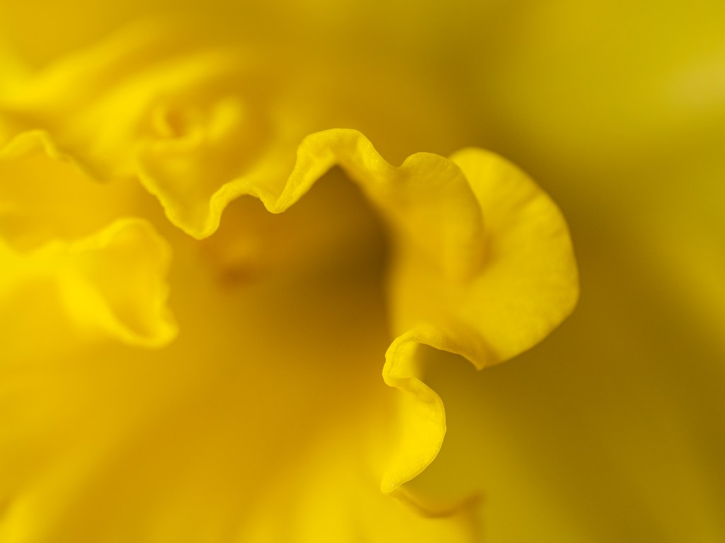
[[40,144],[100,180],[138,177],[173,224],[210,235],[225,182],[283,182],[305,134],[295,119],[312,107],[293,109],[270,88],[273,52],[260,62],[209,36],[200,46],[183,28],[139,22],[4,89],[0,153]]

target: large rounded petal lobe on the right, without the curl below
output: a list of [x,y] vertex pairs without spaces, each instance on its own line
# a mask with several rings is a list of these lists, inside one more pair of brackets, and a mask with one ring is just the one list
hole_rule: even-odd
[[451,159],[484,218],[484,262],[473,277],[456,281],[428,255],[403,246],[391,277],[394,328],[434,324],[467,343],[480,369],[531,348],[558,326],[576,304],[578,274],[563,216],[529,177],[481,149]]

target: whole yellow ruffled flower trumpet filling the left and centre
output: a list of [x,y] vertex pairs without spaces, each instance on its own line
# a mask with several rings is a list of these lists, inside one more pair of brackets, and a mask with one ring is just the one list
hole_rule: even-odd
[[460,143],[455,106],[295,13],[112,6],[38,43],[5,9],[0,540],[476,539],[481,488],[411,484],[426,380],[571,312],[555,204],[494,153],[413,154]]

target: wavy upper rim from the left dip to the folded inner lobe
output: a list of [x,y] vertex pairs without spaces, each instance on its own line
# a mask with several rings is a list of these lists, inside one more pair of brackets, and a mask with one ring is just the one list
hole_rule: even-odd
[[[174,189],[150,177],[149,169],[144,169],[142,178],[167,216],[188,234],[202,238],[217,230],[223,210],[239,196],[254,195],[268,211],[280,213],[334,166],[360,183],[394,230],[401,230],[423,250],[442,254],[447,273],[463,277],[473,273],[483,256],[481,213],[460,169],[432,153],[416,153],[393,167],[357,130],[308,135],[297,148],[297,161],[286,182],[278,173],[254,169],[219,188],[203,213],[178,209],[181,200]],[[195,216],[199,222],[183,222],[183,216]]]

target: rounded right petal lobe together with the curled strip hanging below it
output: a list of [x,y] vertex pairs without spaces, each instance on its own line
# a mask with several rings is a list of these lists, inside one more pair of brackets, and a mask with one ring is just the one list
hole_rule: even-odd
[[469,148],[451,161],[465,174],[484,218],[483,261],[460,280],[441,273],[443,253],[431,258],[398,243],[389,277],[393,326],[402,333],[386,353],[383,375],[405,396],[399,452],[381,489],[419,508],[401,485],[436,458],[446,432],[442,400],[420,380],[421,346],[483,369],[536,345],[579,297],[571,239],[550,198],[494,153]]

